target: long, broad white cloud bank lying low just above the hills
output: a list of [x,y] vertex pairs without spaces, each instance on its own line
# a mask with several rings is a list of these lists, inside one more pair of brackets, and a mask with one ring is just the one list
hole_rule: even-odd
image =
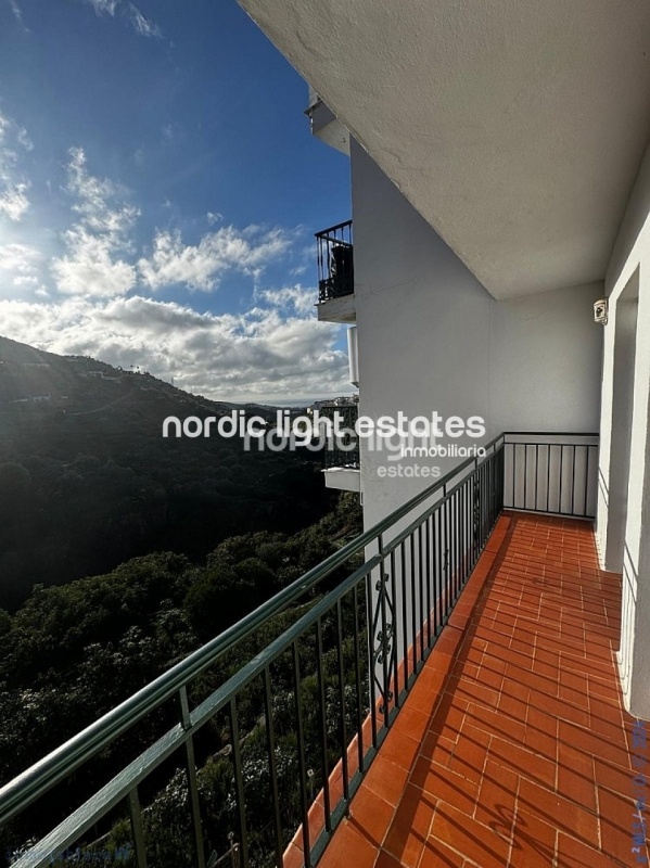
[[[293,288],[277,298],[292,293]],[[124,368],[140,366],[217,400],[272,401],[349,391],[345,354],[334,347],[337,327],[282,305],[216,316],[142,296],[0,301],[0,322],[14,340]]]

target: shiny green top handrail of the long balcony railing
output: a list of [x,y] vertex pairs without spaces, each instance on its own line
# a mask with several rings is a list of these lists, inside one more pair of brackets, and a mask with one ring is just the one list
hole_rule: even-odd
[[[484,447],[486,452],[489,449],[496,451],[495,445],[504,437],[505,434],[498,434],[486,444]],[[435,495],[438,490],[446,495],[446,486],[449,482],[455,480],[468,467],[472,464],[479,467],[483,460],[485,458],[482,459],[481,457],[466,459],[433,485],[424,488],[368,531],[359,534],[339,551],[335,551],[286,588],[279,591],[270,600],[262,603],[253,612],[238,621],[237,624],[228,627],[209,642],[193,651],[180,663],[150,681],[141,690],[106,712],[102,717],[5,783],[0,788],[0,826],[21,810],[24,810],[135,724],[176,695],[184,685],[213,665],[225,653],[248,638],[257,627],[284,611],[292,602],[316,587],[336,567],[382,536],[391,526],[408,515],[424,500]]]

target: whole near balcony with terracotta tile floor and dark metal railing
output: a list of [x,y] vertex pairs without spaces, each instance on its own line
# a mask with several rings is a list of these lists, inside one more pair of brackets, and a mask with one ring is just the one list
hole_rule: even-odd
[[596,448],[500,435],[5,784],[14,864],[641,864]]

